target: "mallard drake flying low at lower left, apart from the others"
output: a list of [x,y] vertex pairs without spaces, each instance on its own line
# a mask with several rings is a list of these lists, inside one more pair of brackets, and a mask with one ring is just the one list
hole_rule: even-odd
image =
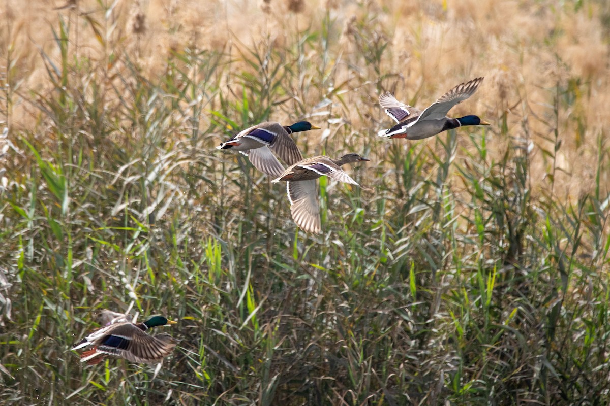
[[81,354],[81,362],[90,365],[101,362],[105,356],[123,358],[131,362],[159,363],[170,355],[178,340],[171,335],[162,333],[155,336],[146,334],[152,327],[176,324],[163,316],[154,316],[143,323],[121,321],[120,315],[112,317],[110,324],[101,327],[87,335],[71,351],[92,346]]

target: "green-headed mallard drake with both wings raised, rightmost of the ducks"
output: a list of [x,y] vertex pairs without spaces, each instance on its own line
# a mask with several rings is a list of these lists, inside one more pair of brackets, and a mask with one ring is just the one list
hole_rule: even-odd
[[462,125],[489,125],[478,116],[470,115],[458,119],[447,117],[449,110],[472,96],[481,82],[483,82],[483,77],[478,77],[455,86],[424,111],[399,102],[390,93],[382,94],[379,96],[379,104],[386,110],[386,114],[398,124],[389,130],[379,131],[377,135],[390,138],[422,139]]

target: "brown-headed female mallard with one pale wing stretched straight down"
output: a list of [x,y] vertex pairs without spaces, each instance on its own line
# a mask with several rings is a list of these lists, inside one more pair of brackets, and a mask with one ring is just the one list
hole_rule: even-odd
[[318,234],[321,231],[321,222],[315,180],[326,175],[339,182],[357,185],[350,175],[343,172],[341,166],[368,160],[357,153],[348,153],[339,159],[324,155],[314,156],[289,167],[272,182],[286,181],[292,219],[306,233]]

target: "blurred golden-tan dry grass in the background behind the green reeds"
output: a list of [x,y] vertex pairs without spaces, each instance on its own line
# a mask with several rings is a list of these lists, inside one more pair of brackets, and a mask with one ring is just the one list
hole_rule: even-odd
[[[20,2],[7,0],[5,11],[13,18],[9,26],[2,27],[0,49],[2,55],[7,55],[10,46],[10,60],[15,66],[10,71],[10,80],[19,83],[9,114],[11,128],[32,130],[41,119],[40,113],[27,102],[27,94],[30,90],[41,94],[52,91],[38,48],[52,60],[59,60],[51,30],[57,26],[60,15],[77,26],[70,33],[71,52],[80,54],[75,57],[104,63],[113,46],[126,49],[140,66],[143,77],[153,80],[167,69],[168,58],[178,49],[194,47],[229,52],[234,63],[231,71],[224,72],[226,80],[219,92],[231,99],[241,95],[235,74],[249,68],[243,61],[240,63],[243,52],[260,44],[271,43],[282,48],[298,36],[299,29],[320,29],[328,13],[333,21],[329,37],[342,38],[332,41],[327,64],[334,69],[333,79],[347,81],[344,89],[348,94],[343,97],[350,104],[340,115],[350,123],[349,130],[369,133],[387,122],[375,102],[380,89],[390,89],[399,99],[425,105],[462,80],[485,75],[486,82],[476,97],[458,106],[453,113],[475,112],[494,124],[496,130],[489,139],[490,157],[506,149],[507,140],[497,130],[506,113],[511,134],[526,136],[527,131],[534,142],[532,166],[539,175],[533,178],[534,183],[548,186],[545,173],[550,172],[550,164],[540,149],[553,148],[548,137],[558,124],[562,141],[558,157],[561,172],[556,174],[554,190],[562,198],[590,192],[592,183],[588,180],[592,172],[587,163],[595,158],[596,140],[610,124],[610,113],[605,108],[610,102],[610,55],[608,28],[602,26],[600,19],[603,3],[587,2],[578,10],[572,3],[556,7],[555,2],[517,1],[483,4],[447,1],[425,5],[415,1],[307,2],[305,5],[299,1],[275,0],[265,4],[270,8],[269,13],[264,13],[262,4],[254,1],[120,2],[109,22],[98,27],[102,35],[108,35],[101,43],[87,21],[79,17],[79,13],[84,13],[95,21],[103,21],[104,11],[98,2],[78,1],[74,9],[53,10],[46,1],[34,1],[31,7],[24,8]],[[134,33],[134,15],[145,21],[145,32]],[[354,45],[362,39],[357,38],[363,35],[362,30],[371,36],[367,40],[389,41],[387,52],[379,60],[381,74],[353,63],[362,51]],[[303,51],[307,68],[318,66],[324,57],[317,49],[305,47]],[[112,66],[109,77],[123,69],[121,63]],[[579,82],[578,88],[573,99],[561,106],[556,122],[551,108],[554,89],[556,86],[569,89],[575,80]],[[106,83],[111,85],[120,83]],[[300,99],[300,106],[289,100],[274,109],[271,117],[289,122],[303,113],[312,113],[314,106],[326,96],[327,86],[339,83],[314,85],[307,94],[295,89],[293,96]],[[113,101],[116,100],[107,100]],[[375,125],[370,125],[369,114]],[[522,128],[525,117],[527,128]],[[579,133],[579,123],[584,123],[584,133]],[[204,129],[209,124],[203,114],[199,125]],[[366,140],[364,137],[362,142]],[[314,147],[316,140],[311,144]],[[610,184],[607,169],[603,177],[602,184]]]

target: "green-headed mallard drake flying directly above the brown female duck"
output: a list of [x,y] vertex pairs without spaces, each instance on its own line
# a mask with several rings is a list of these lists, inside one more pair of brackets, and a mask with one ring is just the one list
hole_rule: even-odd
[[284,166],[271,153],[273,150],[285,163],[292,165],[303,159],[295,141],[290,138],[292,133],[320,130],[308,121],[296,122],[293,125],[282,126],[279,122],[262,122],[254,127],[246,128],[228,141],[224,141],[218,149],[232,149],[248,156],[250,162],[260,172],[271,176],[279,176],[284,172]]

